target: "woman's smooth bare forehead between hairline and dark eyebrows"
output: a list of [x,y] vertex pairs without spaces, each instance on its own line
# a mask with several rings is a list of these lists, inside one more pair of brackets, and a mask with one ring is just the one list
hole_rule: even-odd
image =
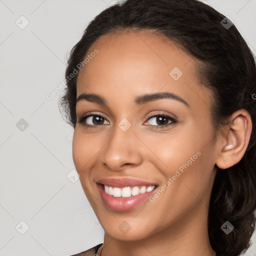
[[[98,53],[90,56],[95,49]],[[195,60],[173,41],[149,31],[103,35],[88,55],[89,61],[78,74],[77,96],[95,92],[133,100],[134,95],[167,90],[182,94],[189,103],[208,94],[199,84]]]

